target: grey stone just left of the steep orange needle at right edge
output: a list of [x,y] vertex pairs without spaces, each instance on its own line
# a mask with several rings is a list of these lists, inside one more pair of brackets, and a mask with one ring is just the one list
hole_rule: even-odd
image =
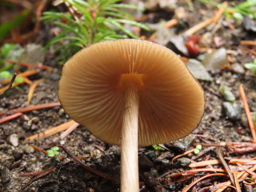
[[241,107],[237,103],[223,102],[224,114],[231,120],[237,121],[241,118]]

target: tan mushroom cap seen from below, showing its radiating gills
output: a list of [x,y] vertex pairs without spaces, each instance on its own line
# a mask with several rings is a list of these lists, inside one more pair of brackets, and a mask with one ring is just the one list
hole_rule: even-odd
[[135,39],[76,53],[63,67],[59,100],[77,123],[120,145],[127,84],[139,94],[139,146],[185,137],[201,121],[204,91],[184,63],[166,47]]

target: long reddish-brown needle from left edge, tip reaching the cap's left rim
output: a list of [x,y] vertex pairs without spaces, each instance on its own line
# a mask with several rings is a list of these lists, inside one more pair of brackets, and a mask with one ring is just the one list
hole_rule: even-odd
[[39,110],[39,109],[45,109],[45,108],[51,108],[51,107],[58,107],[58,106],[60,106],[59,102],[44,103],[44,104],[39,104],[39,105],[35,105],[35,106],[29,106],[29,107],[22,107],[22,108],[18,108],[18,109],[6,110],[6,111],[0,113],[0,116],[5,115],[7,113],[10,113],[10,114],[24,113],[24,112],[27,112],[27,111]]

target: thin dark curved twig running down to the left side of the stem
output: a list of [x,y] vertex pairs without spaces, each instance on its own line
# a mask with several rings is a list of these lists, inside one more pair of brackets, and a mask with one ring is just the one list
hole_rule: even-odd
[[83,163],[80,159],[78,159],[77,157],[75,157],[73,154],[71,154],[68,149],[65,146],[61,146],[58,145],[58,147],[60,147],[61,149],[63,149],[76,163],[78,163],[79,165],[82,165],[86,170],[90,171],[91,173],[94,173],[102,178],[105,179],[110,179],[116,182],[119,182],[120,180],[116,177],[110,176],[110,175],[106,175],[104,173],[101,173],[100,171],[94,170],[91,167],[87,166],[85,163]]

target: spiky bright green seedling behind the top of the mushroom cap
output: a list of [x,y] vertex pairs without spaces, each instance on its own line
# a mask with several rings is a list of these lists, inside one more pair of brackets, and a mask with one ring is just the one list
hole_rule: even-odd
[[128,37],[139,38],[123,25],[137,26],[145,30],[149,30],[149,28],[134,21],[132,15],[123,9],[143,9],[134,5],[118,3],[120,1],[63,0],[76,10],[78,17],[70,13],[44,12],[42,20],[46,23],[53,22],[54,25],[62,29],[59,35],[46,44],[45,49],[49,49],[53,44],[58,44],[55,51],[60,51],[59,59],[67,60],[67,55],[76,53],[93,43]]

